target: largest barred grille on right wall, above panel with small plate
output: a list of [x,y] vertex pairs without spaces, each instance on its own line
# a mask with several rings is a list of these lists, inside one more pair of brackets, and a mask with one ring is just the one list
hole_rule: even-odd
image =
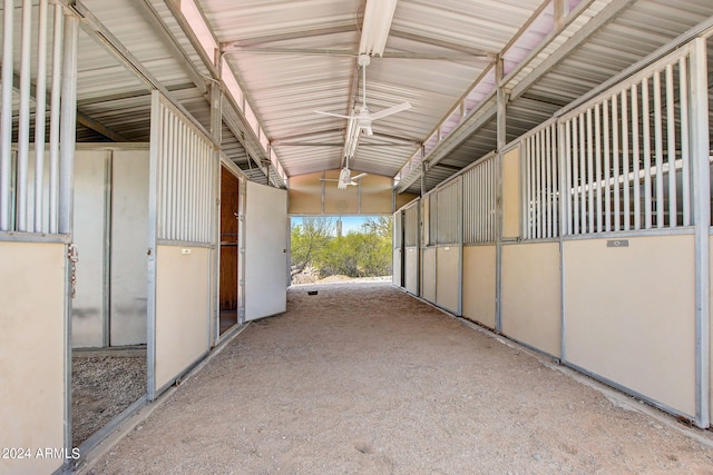
[[688,77],[683,49],[563,118],[566,234],[692,224]]

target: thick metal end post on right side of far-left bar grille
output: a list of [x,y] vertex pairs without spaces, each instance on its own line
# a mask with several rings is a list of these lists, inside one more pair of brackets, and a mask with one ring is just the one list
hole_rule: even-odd
[[75,136],[77,127],[77,41],[79,19],[65,16],[59,150],[59,232],[72,231]]

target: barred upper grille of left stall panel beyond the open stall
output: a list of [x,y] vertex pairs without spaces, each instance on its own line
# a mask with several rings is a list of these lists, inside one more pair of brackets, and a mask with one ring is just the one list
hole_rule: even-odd
[[152,152],[157,154],[157,231],[162,240],[213,241],[213,142],[158,92],[154,92]]

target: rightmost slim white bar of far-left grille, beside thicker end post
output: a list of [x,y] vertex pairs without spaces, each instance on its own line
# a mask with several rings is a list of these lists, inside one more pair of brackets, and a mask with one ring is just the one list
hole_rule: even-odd
[[[49,119],[49,231],[57,232],[59,194],[59,122],[62,83],[62,6],[55,4],[55,28],[52,30],[52,90]],[[3,69],[4,71],[4,69]],[[0,174],[1,175],[1,174]]]

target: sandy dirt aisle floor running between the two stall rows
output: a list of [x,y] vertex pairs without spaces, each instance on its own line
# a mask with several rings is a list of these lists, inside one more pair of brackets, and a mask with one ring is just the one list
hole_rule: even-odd
[[694,432],[388,284],[332,284],[293,287],[89,473],[713,473]]

